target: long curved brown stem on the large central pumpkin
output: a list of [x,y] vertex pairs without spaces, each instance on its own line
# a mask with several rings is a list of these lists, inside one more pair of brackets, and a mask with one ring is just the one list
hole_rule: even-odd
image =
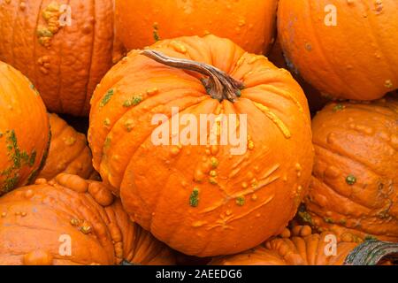
[[231,76],[212,65],[188,59],[167,57],[155,50],[142,50],[141,54],[163,65],[202,73],[206,76],[206,78],[202,79],[204,88],[206,88],[211,98],[218,99],[219,102],[227,99],[234,103],[241,96],[241,89],[244,88],[241,81],[234,80]]

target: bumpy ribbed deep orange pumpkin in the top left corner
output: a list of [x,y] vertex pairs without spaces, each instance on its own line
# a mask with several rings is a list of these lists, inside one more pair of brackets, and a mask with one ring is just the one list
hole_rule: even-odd
[[112,0],[0,0],[0,60],[34,82],[49,111],[87,115],[119,51],[113,15]]

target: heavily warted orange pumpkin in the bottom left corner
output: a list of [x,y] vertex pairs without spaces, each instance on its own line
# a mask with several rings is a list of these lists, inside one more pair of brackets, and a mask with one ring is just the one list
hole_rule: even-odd
[[[0,264],[173,264],[96,181],[62,173],[0,198]],[[70,246],[69,246],[70,244]]]

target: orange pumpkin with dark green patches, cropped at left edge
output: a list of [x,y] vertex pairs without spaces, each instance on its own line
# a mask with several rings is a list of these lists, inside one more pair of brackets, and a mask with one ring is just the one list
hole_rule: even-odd
[[19,71],[0,61],[0,195],[34,180],[50,126],[42,98]]

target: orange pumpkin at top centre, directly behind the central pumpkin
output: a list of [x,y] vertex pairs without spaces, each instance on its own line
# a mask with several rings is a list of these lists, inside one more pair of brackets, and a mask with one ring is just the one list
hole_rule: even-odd
[[[116,28],[129,50],[159,39],[215,34],[244,50],[269,50],[278,0],[116,0]],[[172,18],[172,19],[171,19]]]

